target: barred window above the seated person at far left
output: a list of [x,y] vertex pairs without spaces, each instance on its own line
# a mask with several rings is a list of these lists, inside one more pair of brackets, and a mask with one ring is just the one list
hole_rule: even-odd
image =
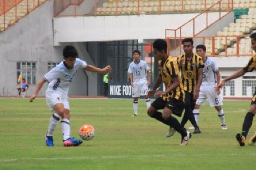
[[17,62],[17,81],[22,75],[22,79],[25,79],[28,84],[36,84],[35,72],[35,62]]

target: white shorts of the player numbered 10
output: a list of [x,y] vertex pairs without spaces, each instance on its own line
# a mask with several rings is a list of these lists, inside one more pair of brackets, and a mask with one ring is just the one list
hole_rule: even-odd
[[148,90],[147,80],[135,81],[133,82],[132,97],[144,96],[148,93]]

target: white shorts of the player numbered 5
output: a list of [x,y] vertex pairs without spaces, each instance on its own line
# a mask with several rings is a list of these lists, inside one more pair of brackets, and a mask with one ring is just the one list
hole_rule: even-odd
[[215,84],[201,85],[199,97],[196,100],[196,105],[204,106],[204,102],[206,101],[206,99],[208,100],[210,107],[223,105],[223,99],[221,95],[218,95],[214,90],[215,86]]

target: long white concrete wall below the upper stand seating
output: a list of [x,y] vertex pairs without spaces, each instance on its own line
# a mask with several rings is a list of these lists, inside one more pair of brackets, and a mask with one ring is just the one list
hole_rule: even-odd
[[165,38],[198,13],[125,16],[55,17],[54,45],[62,42],[114,41]]

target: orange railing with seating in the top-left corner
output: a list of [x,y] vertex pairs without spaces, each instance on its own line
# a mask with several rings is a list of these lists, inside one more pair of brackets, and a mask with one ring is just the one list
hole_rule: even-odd
[[47,0],[0,0],[0,33]]

